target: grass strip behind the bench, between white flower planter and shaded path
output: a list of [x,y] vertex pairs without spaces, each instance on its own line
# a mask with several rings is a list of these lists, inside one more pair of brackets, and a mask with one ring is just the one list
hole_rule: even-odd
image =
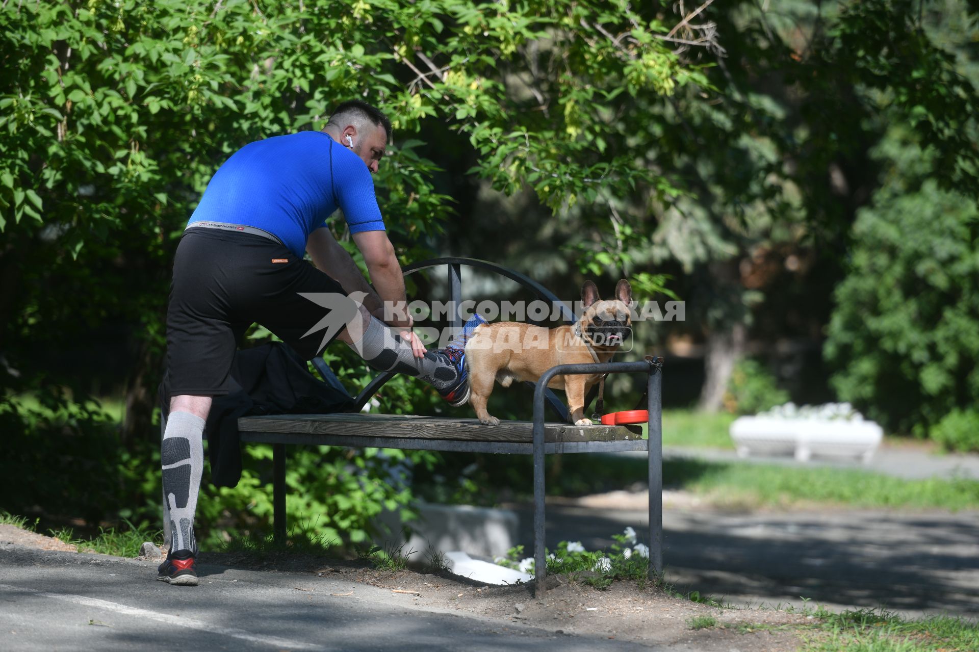
[[[446,454],[446,456],[449,454]],[[478,456],[454,454],[461,469]],[[436,491],[419,471],[416,495],[434,502],[493,506],[505,500],[533,499],[533,460],[514,456],[507,464],[483,463],[465,483],[445,483],[454,492]],[[549,495],[581,496],[616,489],[637,490],[647,478],[645,459],[615,455],[550,455],[545,460]],[[705,502],[735,509],[840,506],[862,509],[979,509],[979,481],[931,478],[905,480],[861,468],[715,462],[671,458],[663,462],[667,489],[688,490]],[[634,487],[633,487],[634,485]],[[471,487],[470,487],[471,486]],[[438,489],[438,488],[437,488]]]

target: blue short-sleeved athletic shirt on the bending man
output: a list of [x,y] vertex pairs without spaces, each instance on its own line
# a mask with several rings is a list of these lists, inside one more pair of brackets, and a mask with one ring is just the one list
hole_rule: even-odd
[[350,233],[385,230],[367,165],[328,133],[301,131],[249,143],[231,155],[187,223],[255,226],[302,257],[309,234],[338,208]]

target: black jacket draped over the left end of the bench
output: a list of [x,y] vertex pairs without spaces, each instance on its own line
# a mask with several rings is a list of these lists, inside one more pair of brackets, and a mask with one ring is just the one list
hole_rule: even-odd
[[[210,482],[234,487],[241,480],[241,440],[238,418],[259,414],[330,414],[344,412],[353,399],[309,373],[296,351],[273,342],[240,349],[231,365],[231,392],[215,396],[205,435],[208,438]],[[163,414],[169,410],[168,377],[160,385]]]

